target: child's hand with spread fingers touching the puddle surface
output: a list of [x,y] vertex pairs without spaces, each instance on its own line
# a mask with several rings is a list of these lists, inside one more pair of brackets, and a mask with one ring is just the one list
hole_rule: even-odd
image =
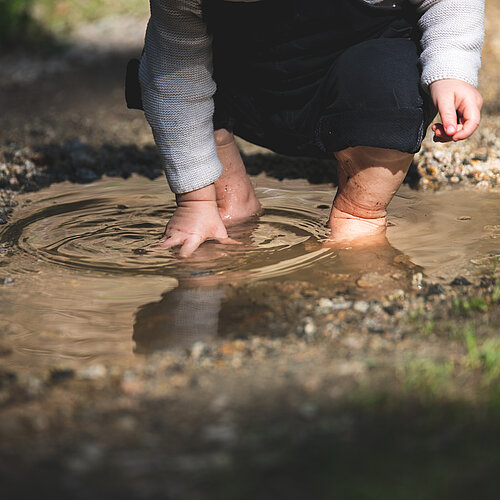
[[181,245],[179,255],[189,257],[204,241],[239,244],[227,235],[215,201],[213,184],[177,195],[177,209],[165,228],[158,248]]

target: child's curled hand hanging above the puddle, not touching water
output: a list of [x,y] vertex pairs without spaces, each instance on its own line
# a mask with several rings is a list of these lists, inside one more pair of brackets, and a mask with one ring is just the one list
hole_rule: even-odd
[[469,83],[451,78],[431,83],[429,91],[443,122],[432,126],[434,141],[460,141],[471,136],[481,119],[481,94]]

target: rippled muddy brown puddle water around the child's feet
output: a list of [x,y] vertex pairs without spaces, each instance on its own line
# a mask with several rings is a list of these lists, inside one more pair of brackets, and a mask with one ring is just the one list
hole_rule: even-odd
[[13,279],[0,287],[0,341],[12,349],[2,364],[130,362],[236,330],[252,334],[259,308],[249,306],[271,284],[329,280],[330,296],[368,297],[381,292],[360,286],[360,276],[377,275],[389,292],[407,288],[418,266],[433,280],[474,276],[499,252],[498,192],[403,187],[390,206],[390,245],[338,252],[322,246],[330,186],[264,176],[256,184],[265,214],[230,233],[244,244],[206,243],[184,261],[150,248],[174,210],[164,179],[64,183],[20,197],[0,232],[0,278]]

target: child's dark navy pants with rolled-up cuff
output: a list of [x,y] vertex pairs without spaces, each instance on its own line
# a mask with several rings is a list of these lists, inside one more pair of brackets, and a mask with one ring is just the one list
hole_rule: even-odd
[[205,0],[214,127],[293,156],[352,146],[415,153],[435,116],[410,8],[355,0]]

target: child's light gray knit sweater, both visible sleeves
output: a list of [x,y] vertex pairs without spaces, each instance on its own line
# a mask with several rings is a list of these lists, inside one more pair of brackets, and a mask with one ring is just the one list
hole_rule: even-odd
[[[212,125],[212,46],[201,1],[150,0],[140,65],[144,112],[174,193],[207,186],[222,172]],[[420,14],[423,87],[443,78],[477,85],[485,0],[408,1]]]

